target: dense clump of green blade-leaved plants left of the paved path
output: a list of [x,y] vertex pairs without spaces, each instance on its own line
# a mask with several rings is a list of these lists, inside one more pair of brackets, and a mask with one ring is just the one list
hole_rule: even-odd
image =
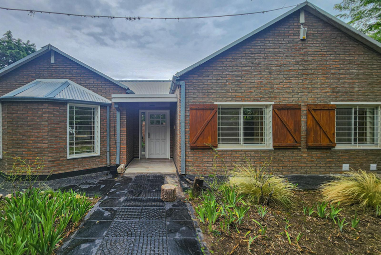
[[0,254],[48,255],[57,248],[69,223],[73,228],[90,209],[90,202],[74,191],[42,192],[38,188],[6,198],[0,220]]

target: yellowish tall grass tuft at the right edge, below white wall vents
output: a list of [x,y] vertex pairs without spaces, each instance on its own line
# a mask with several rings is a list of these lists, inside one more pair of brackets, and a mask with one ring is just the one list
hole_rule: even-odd
[[381,205],[381,179],[373,173],[351,170],[349,175],[323,184],[321,193],[326,201],[333,203],[376,208]]

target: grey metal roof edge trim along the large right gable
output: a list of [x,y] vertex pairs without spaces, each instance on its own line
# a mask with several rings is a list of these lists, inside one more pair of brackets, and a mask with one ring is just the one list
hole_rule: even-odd
[[370,48],[372,48],[373,50],[381,53],[381,43],[377,42],[376,40],[374,40],[373,38],[365,35],[364,33],[358,31],[357,29],[349,26],[348,24],[346,24],[345,22],[339,20],[338,18],[334,17],[333,15],[325,12],[324,10],[318,8],[317,6],[309,3],[308,1],[302,3],[302,4],[299,4],[298,6],[294,7],[293,9],[291,9],[290,11],[284,13],[283,15],[277,17],[276,19],[266,23],[265,25],[259,27],[258,29],[254,30],[253,32],[241,37],[240,39],[234,41],[233,43],[225,46],[224,48],[216,51],[215,53],[209,55],[208,57],[200,60],[199,62],[177,72],[175,74],[176,77],[180,77],[181,75],[183,75],[184,73],[187,73],[189,72],[190,70],[204,64],[205,62],[207,62],[208,60],[216,57],[217,55],[223,53],[224,51],[232,48],[233,46],[241,43],[242,41],[248,39],[249,37],[261,32],[262,30],[265,30],[266,28],[270,27],[271,25],[275,24],[276,22],[282,20],[283,18],[286,18],[287,16],[289,16],[290,14],[293,14],[294,12],[300,10],[300,9],[305,9],[306,11],[312,13],[313,15],[319,17],[320,19],[328,22],[329,24],[331,24],[332,26],[338,28],[339,30],[341,30],[342,32],[348,34],[349,36],[357,39],[358,41],[362,42],[363,44],[369,46]]

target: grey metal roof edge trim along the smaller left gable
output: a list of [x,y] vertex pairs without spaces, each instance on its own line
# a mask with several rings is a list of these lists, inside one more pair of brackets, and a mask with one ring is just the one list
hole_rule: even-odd
[[32,54],[26,56],[25,58],[22,58],[22,59],[20,59],[19,61],[16,61],[15,63],[13,63],[13,64],[11,64],[11,65],[9,65],[9,66],[3,68],[2,70],[0,70],[0,76],[4,75],[4,74],[6,74],[6,73],[11,72],[12,70],[14,70],[14,69],[16,69],[16,68],[18,68],[18,67],[20,67],[20,66],[22,66],[22,65],[24,65],[24,64],[26,64],[26,63],[28,63],[29,61],[34,60],[34,59],[37,58],[37,57],[40,57],[41,55],[44,55],[45,53],[47,53],[47,52],[49,52],[49,51],[51,51],[51,50],[53,50],[53,51],[55,51],[55,52],[57,52],[57,53],[59,53],[59,54],[65,56],[65,57],[67,57],[68,59],[70,59],[70,60],[76,62],[77,64],[80,64],[81,66],[83,66],[83,67],[89,69],[90,71],[93,71],[93,72],[95,72],[96,74],[102,76],[103,78],[106,78],[107,80],[109,80],[109,81],[115,83],[116,85],[121,86],[122,88],[125,88],[125,89],[128,90],[128,87],[127,87],[126,85],[124,85],[124,84],[120,83],[119,81],[116,81],[116,80],[114,80],[113,78],[111,78],[111,77],[105,75],[104,73],[101,73],[101,72],[99,72],[98,70],[96,70],[96,69],[94,69],[94,68],[92,68],[92,67],[86,65],[85,63],[79,61],[78,59],[73,58],[73,57],[70,56],[69,54],[66,54],[65,52],[59,50],[58,48],[56,48],[56,47],[54,47],[53,45],[50,45],[50,44],[48,44],[48,45],[42,47],[40,50],[38,50],[38,51],[36,51],[36,52],[34,52],[34,53],[32,53]]

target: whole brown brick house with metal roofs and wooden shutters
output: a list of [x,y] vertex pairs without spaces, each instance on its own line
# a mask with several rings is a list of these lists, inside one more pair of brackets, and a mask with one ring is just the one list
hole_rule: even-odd
[[116,81],[48,45],[0,71],[0,96],[1,150],[53,174],[155,158],[206,174],[211,146],[281,174],[381,164],[381,44],[308,2],[172,80]]

